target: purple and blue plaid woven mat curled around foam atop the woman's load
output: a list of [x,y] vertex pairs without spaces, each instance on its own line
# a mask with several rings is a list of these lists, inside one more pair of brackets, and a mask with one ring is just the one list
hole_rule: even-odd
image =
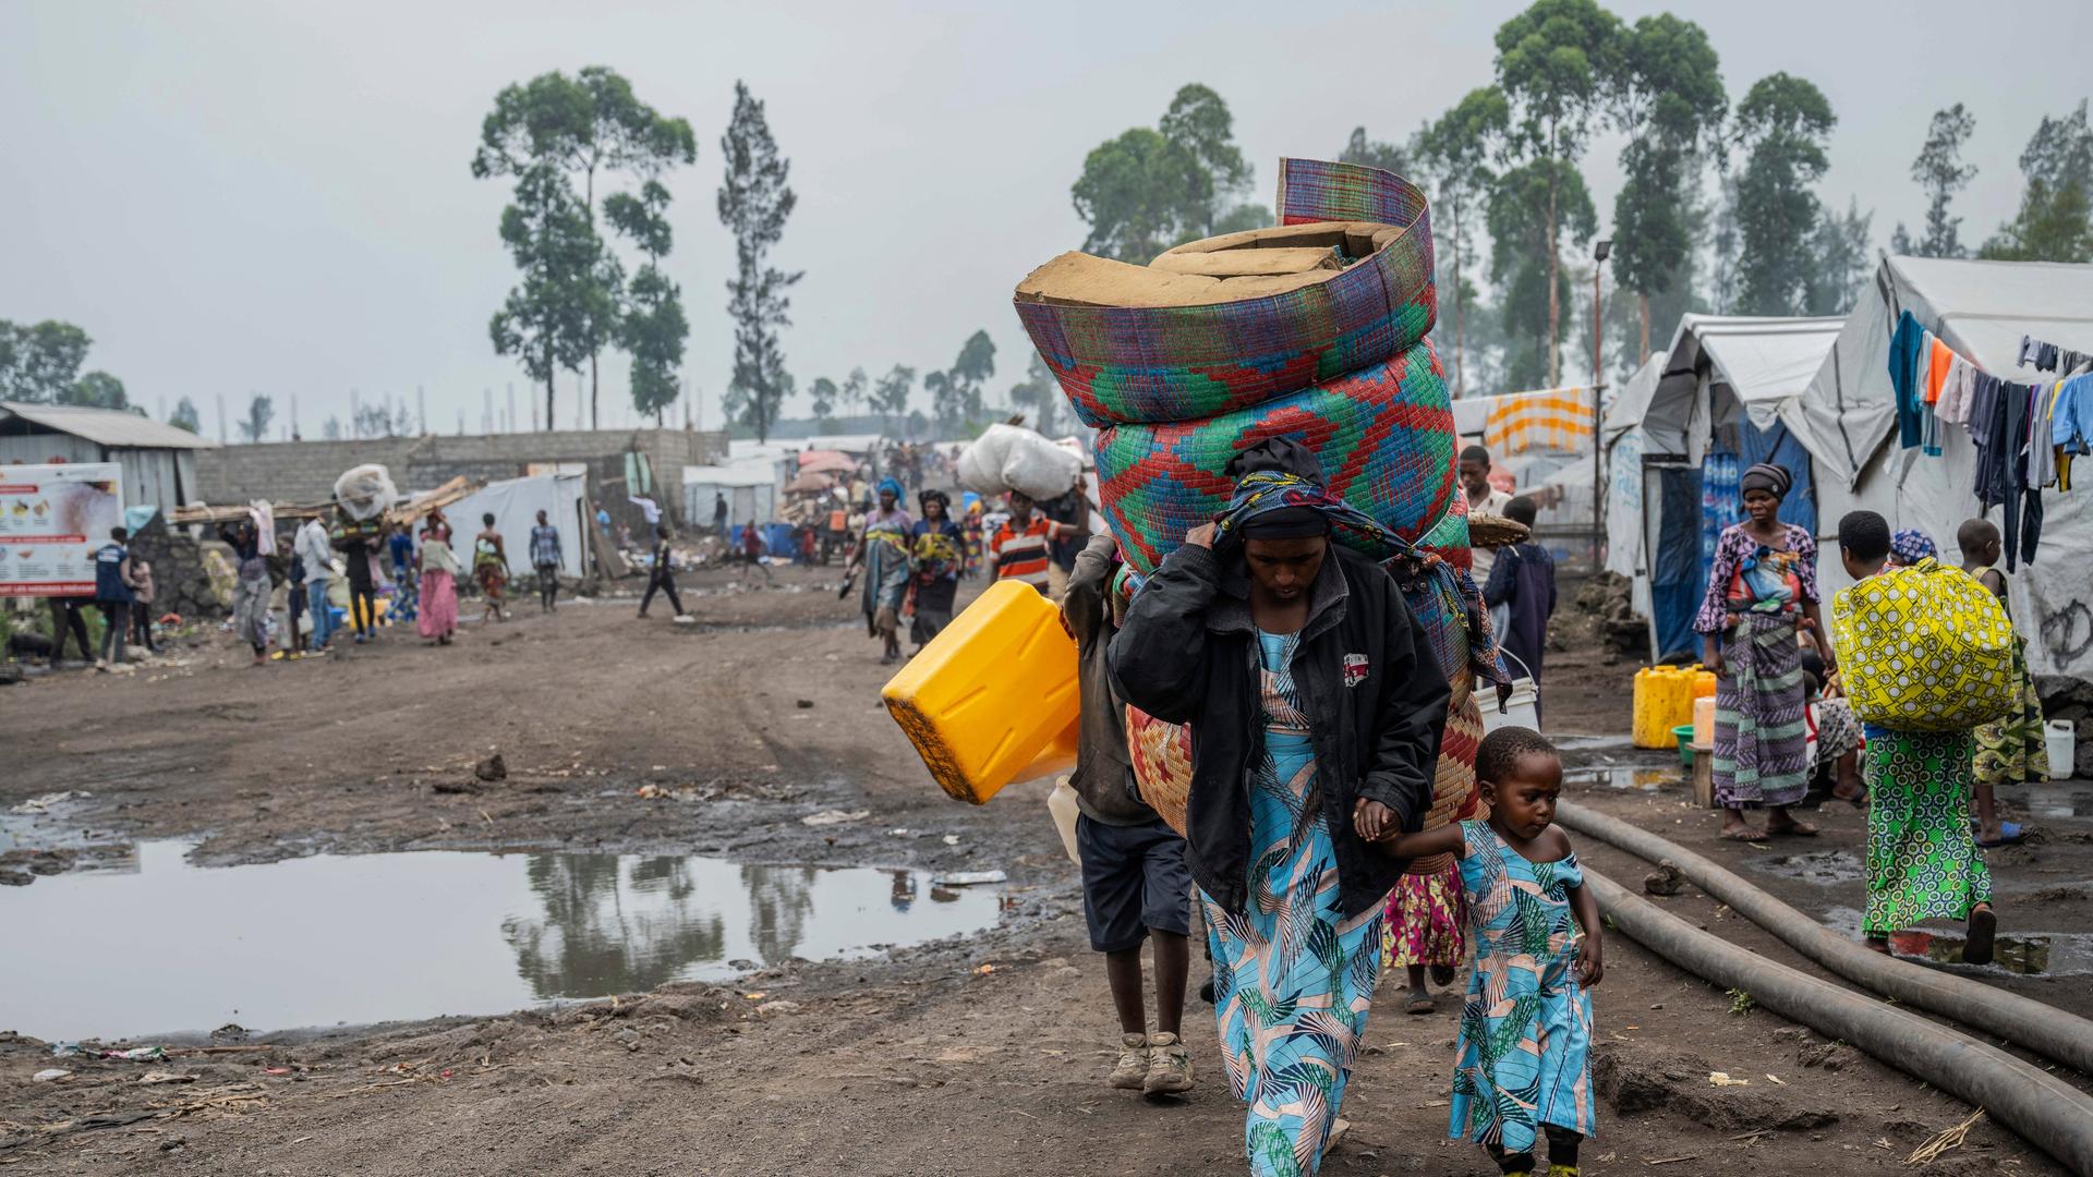
[[[1432,331],[1432,218],[1415,184],[1354,163],[1287,159],[1279,201],[1287,224],[1373,220],[1406,232],[1283,295],[1164,308],[1017,302],[1017,318],[1084,423],[1235,413],[1379,364]],[[1331,216],[1314,216],[1319,207]]]

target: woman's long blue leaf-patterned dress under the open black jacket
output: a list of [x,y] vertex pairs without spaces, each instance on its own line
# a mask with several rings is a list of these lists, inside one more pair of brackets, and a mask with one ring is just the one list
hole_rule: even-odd
[[1310,1175],[1344,1102],[1381,972],[1381,905],[1344,917],[1314,741],[1293,689],[1300,635],[1258,635],[1264,752],[1250,781],[1250,905],[1206,892],[1214,1012],[1258,1177]]

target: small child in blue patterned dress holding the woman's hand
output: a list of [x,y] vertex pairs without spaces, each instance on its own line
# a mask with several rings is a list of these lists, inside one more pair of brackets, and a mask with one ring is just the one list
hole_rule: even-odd
[[1532,1173],[1549,1139],[1551,1177],[1576,1175],[1593,1129],[1591,997],[1605,974],[1599,905],[1555,825],[1563,767],[1555,746],[1501,727],[1476,752],[1488,821],[1379,842],[1388,854],[1455,854],[1467,892],[1476,970],[1461,1009],[1448,1135],[1484,1146],[1503,1173]]

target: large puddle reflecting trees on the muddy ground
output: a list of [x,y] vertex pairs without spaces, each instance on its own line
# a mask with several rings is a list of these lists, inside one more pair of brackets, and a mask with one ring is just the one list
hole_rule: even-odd
[[862,957],[996,921],[986,888],[651,854],[193,867],[186,842],[0,888],[0,1028],[48,1041],[502,1014]]

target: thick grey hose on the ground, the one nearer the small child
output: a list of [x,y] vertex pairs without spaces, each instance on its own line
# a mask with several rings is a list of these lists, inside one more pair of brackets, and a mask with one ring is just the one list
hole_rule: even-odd
[[1614,928],[1658,957],[1961,1097],[2080,1177],[2093,1175],[2093,1097],[2047,1070],[1702,932],[1584,867]]

